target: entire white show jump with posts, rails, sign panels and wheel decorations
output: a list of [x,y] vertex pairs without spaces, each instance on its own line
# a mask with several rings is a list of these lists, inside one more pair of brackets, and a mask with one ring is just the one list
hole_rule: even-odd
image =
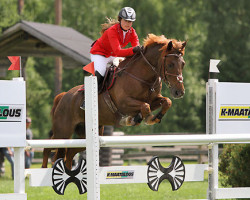
[[[213,62],[216,61],[210,61],[210,64]],[[212,67],[210,67],[210,72],[217,72]],[[86,77],[86,140],[53,141],[26,141],[25,139],[25,82],[19,78],[12,81],[0,81],[0,85],[0,92],[5,95],[0,99],[0,146],[14,147],[15,150],[14,193],[0,194],[0,199],[26,200],[25,175],[27,174],[30,176],[31,186],[53,186],[55,191],[63,194],[67,184],[74,182],[80,193],[88,191],[87,199],[98,200],[100,199],[100,184],[147,183],[150,189],[158,190],[160,182],[168,179],[172,189],[176,190],[182,184],[178,177],[183,177],[185,182],[203,181],[205,170],[209,173],[207,199],[250,198],[250,188],[219,188],[218,186],[218,144],[250,142],[250,121],[246,111],[250,107],[248,100],[250,95],[242,92],[250,89],[248,83],[219,83],[217,79],[208,80],[206,135],[98,136],[97,81],[96,77]],[[242,109],[245,109],[245,112],[241,112]],[[14,110],[15,114],[13,114]],[[100,147],[184,144],[208,145],[208,165],[184,166],[181,160],[174,157],[171,165],[164,168],[155,157],[148,166],[99,167]],[[58,160],[54,168],[25,170],[24,148],[27,147],[86,147],[87,162],[83,160],[73,171],[65,169],[62,160]],[[179,166],[180,172],[178,172]],[[173,171],[175,168],[177,170]]]

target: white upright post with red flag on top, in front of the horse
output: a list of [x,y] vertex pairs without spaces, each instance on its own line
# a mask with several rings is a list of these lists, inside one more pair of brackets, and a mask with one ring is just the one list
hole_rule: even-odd
[[87,199],[100,200],[99,180],[99,122],[97,78],[85,77],[85,124],[87,158]]

